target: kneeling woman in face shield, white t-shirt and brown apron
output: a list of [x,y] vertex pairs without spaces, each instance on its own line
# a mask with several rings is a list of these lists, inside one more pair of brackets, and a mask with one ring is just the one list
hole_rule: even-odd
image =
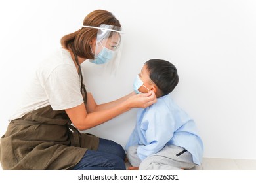
[[1,138],[3,169],[125,169],[119,144],[78,131],[156,102],[154,93],[130,93],[97,105],[83,84],[81,63],[116,58],[120,31],[113,14],[95,10],[81,29],[62,37],[62,48],[39,65]]

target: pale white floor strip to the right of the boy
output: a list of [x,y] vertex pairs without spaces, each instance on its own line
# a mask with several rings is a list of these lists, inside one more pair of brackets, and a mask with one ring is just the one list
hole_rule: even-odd
[[[129,164],[127,163],[127,167]],[[2,169],[0,165],[0,170]],[[203,158],[196,170],[256,170],[256,160]]]

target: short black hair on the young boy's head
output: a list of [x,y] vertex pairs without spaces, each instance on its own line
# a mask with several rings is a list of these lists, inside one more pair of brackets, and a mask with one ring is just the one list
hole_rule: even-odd
[[159,97],[173,91],[179,82],[176,67],[169,61],[163,59],[150,59],[145,63],[150,79],[160,90]]

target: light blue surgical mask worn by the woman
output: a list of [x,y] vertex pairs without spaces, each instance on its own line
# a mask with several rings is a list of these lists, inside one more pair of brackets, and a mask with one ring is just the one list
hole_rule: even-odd
[[114,51],[109,50],[108,48],[105,48],[104,46],[102,46],[102,50],[100,51],[100,53],[97,56],[95,56],[95,59],[90,59],[90,61],[91,63],[95,63],[95,64],[104,64],[110,61],[110,59],[114,57],[114,53],[115,53]]

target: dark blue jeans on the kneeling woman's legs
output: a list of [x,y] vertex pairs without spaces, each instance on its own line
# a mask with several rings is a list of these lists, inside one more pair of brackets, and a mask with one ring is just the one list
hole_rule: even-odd
[[87,150],[74,170],[125,170],[125,150],[114,141],[101,139],[98,150]]

